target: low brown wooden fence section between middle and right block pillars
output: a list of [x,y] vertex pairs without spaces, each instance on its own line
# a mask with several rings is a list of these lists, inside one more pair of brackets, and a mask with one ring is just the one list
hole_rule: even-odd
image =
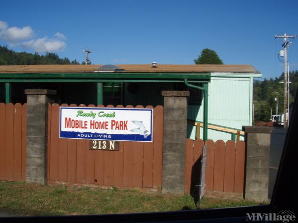
[[[200,157],[203,140],[186,140],[185,150],[185,192],[190,193],[199,184]],[[228,140],[207,140],[206,190],[243,193],[245,142]]]

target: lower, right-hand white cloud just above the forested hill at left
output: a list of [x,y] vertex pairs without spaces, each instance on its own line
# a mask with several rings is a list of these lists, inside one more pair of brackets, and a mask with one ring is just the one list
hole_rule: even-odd
[[66,48],[66,43],[61,40],[49,39],[47,37],[20,43],[22,47],[38,53],[61,51]]

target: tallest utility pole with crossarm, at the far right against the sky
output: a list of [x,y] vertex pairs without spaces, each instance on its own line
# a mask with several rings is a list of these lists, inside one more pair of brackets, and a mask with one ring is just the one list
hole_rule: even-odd
[[283,47],[284,47],[284,53],[285,53],[285,64],[284,64],[284,92],[285,92],[285,97],[284,97],[284,128],[287,128],[288,125],[287,125],[287,96],[288,96],[288,84],[287,84],[287,63],[288,63],[288,60],[287,60],[287,47],[290,46],[291,42],[288,41],[288,38],[296,38],[296,35],[294,36],[287,36],[287,34],[285,33],[283,36],[278,36],[278,35],[275,35],[275,39],[277,38],[284,38],[284,43],[283,43]]

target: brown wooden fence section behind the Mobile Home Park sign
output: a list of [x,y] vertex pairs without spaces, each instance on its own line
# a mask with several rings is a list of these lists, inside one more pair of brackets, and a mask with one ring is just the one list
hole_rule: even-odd
[[[63,104],[62,107],[68,107]],[[77,107],[70,105],[70,107]],[[80,107],[85,107],[81,105]],[[88,107],[95,107],[89,105]],[[98,106],[103,108],[103,106]],[[114,108],[113,106],[107,106]],[[59,138],[58,104],[49,105],[48,183],[161,188],[163,107],[153,108],[153,142],[122,142],[119,151],[89,150],[89,140]],[[116,108],[124,108],[117,106]],[[134,108],[127,106],[126,108]],[[137,106],[136,108],[144,108]],[[160,189],[157,189],[160,190]]]

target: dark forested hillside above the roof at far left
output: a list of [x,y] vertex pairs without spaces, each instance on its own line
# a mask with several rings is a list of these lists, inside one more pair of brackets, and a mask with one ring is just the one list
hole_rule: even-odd
[[0,65],[35,65],[35,64],[79,64],[78,61],[64,57],[60,58],[55,53],[30,54],[26,52],[14,52],[6,46],[0,46]]

